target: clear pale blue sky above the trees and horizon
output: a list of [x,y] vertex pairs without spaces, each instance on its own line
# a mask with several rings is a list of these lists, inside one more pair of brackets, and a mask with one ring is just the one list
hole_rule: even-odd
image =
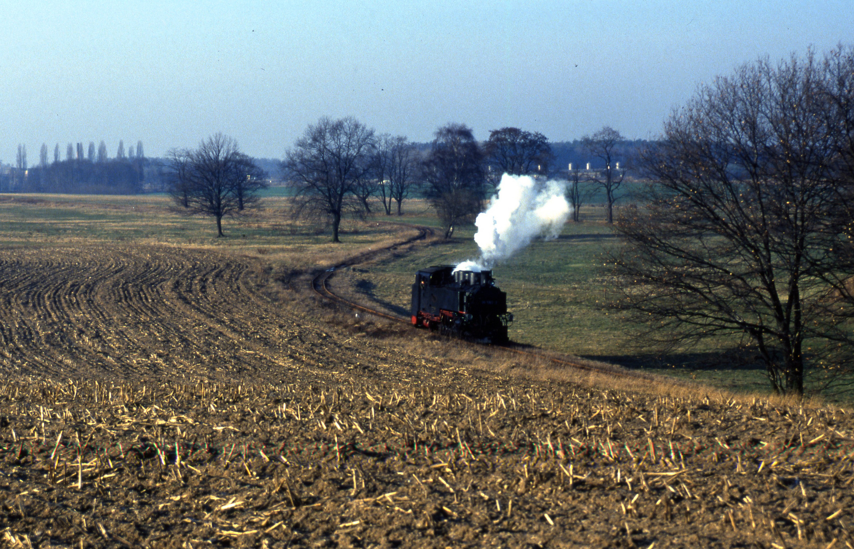
[[31,166],[42,143],[157,156],[216,131],[281,158],[324,115],[422,142],[447,122],[649,138],[717,74],[854,43],[851,0],[0,6],[0,161],[23,143]]

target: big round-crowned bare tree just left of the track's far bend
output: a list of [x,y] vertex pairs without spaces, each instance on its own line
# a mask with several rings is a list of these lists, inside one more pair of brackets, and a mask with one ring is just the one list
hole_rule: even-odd
[[347,213],[364,207],[354,187],[369,176],[374,131],[352,117],[323,117],[309,125],[294,149],[288,151],[282,171],[295,185],[295,216],[330,219],[332,242]]

